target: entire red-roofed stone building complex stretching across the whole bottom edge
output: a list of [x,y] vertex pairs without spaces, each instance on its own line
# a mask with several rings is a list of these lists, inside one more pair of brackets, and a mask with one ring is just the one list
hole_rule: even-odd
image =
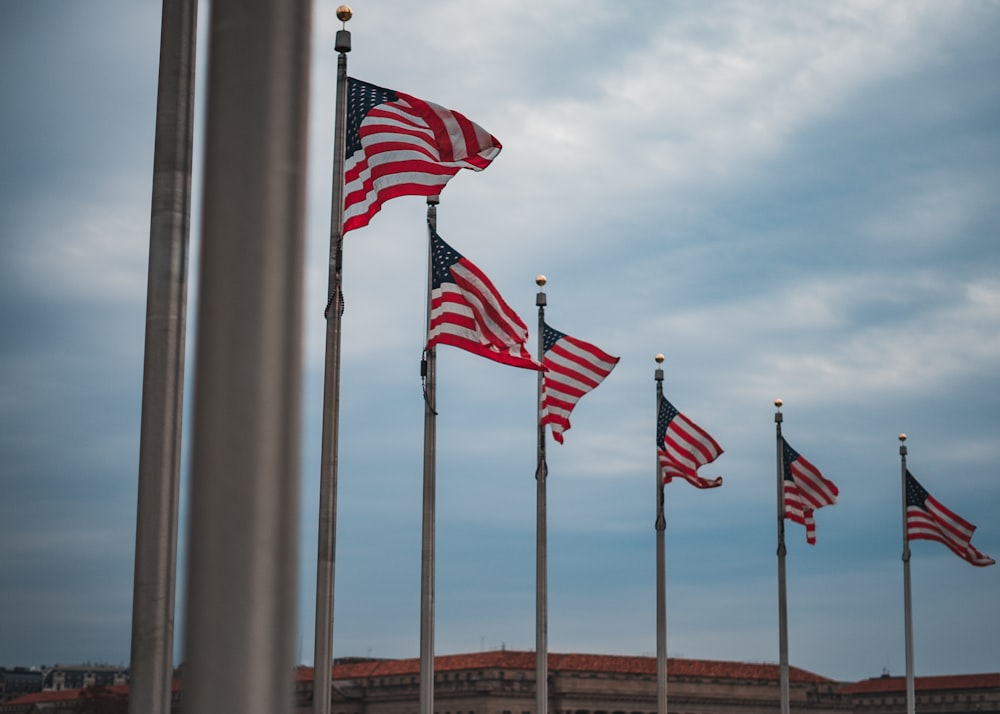
[[[778,714],[776,664],[670,658],[671,714]],[[418,714],[417,659],[338,660],[333,667],[333,714]],[[535,653],[495,650],[435,658],[436,714],[534,714]],[[791,710],[798,714],[903,714],[906,680],[883,676],[838,682],[789,668]],[[1000,673],[916,678],[920,714],[1000,713]],[[0,714],[118,714],[124,685],[28,694],[0,703]],[[296,671],[295,711],[312,711],[313,670]],[[182,709],[174,684],[172,709]],[[656,658],[549,654],[549,714],[655,714]]]

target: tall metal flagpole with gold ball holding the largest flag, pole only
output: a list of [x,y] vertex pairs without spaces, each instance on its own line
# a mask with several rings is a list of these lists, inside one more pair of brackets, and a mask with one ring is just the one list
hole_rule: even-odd
[[347,53],[351,8],[337,8],[337,101],[333,143],[329,298],[326,305],[326,365],[323,374],[323,444],[320,456],[319,524],[316,546],[316,621],[313,648],[313,714],[330,714],[333,657],[333,586],[337,549],[337,465],[340,444],[340,343],[343,318],[344,153],[347,136]]

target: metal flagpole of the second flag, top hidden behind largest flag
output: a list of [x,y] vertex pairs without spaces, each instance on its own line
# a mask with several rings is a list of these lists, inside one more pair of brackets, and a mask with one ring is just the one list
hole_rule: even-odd
[[[427,335],[431,332],[434,289],[432,236],[437,232],[439,196],[427,197]],[[434,529],[436,503],[437,354],[424,351],[420,364],[424,380],[424,522],[420,548],[420,714],[434,714]]]

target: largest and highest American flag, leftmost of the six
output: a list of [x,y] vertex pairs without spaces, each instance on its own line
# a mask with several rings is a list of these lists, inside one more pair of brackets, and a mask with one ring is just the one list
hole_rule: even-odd
[[397,196],[436,196],[459,169],[482,171],[500,142],[458,112],[347,79],[344,233]]

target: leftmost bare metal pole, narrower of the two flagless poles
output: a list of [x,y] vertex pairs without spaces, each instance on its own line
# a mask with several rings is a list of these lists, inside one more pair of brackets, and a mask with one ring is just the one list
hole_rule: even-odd
[[197,19],[197,0],[164,0],[139,427],[132,714],[170,712]]

